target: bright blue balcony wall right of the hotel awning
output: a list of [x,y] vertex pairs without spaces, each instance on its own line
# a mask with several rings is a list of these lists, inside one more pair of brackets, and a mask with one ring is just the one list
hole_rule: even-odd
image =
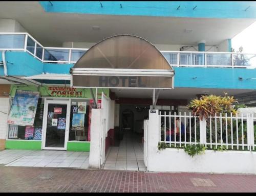
[[[175,67],[175,87],[256,89],[256,69]],[[239,80],[243,78],[243,80]]]

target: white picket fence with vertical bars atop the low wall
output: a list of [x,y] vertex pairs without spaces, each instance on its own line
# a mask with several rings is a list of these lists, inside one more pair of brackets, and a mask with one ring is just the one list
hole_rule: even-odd
[[256,118],[252,114],[216,114],[206,120],[199,120],[199,116],[191,113],[177,115],[160,112],[159,138],[160,142],[169,144],[169,147],[200,143],[207,149],[251,151],[255,149],[254,121]]

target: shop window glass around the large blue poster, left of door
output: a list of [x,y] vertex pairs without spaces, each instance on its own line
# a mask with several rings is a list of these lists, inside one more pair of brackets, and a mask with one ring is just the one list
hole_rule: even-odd
[[44,99],[39,98],[33,127],[9,125],[8,139],[41,140]]

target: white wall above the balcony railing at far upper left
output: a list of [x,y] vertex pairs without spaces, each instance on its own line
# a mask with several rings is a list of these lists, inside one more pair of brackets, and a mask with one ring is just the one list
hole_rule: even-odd
[[14,19],[0,19],[0,32],[10,32],[10,33],[24,33],[27,32],[24,27]]

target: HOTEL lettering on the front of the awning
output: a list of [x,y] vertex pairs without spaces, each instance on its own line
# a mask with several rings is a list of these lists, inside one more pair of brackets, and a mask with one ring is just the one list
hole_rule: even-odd
[[137,76],[100,76],[99,86],[101,87],[145,87],[141,77]]

